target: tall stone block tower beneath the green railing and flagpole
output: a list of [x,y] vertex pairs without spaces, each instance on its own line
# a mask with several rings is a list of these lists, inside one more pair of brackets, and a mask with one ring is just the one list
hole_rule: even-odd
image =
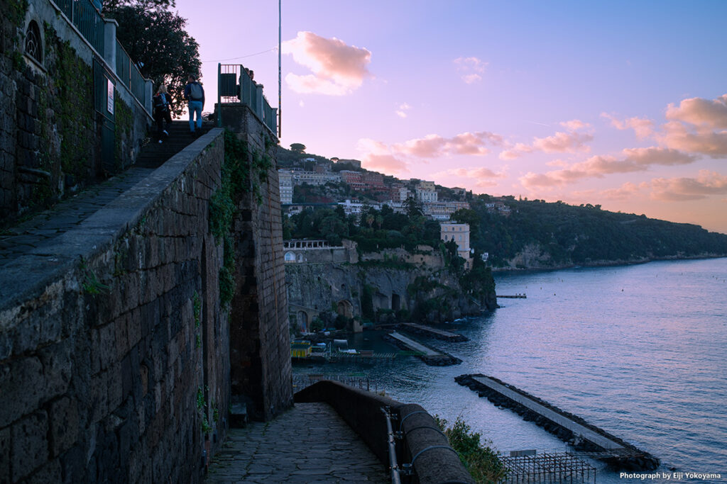
[[[252,157],[274,160],[273,134],[245,106],[223,106],[222,122],[240,133]],[[254,179],[254,177],[252,177]],[[257,181],[253,181],[257,183]],[[278,171],[241,203],[234,221],[238,271],[232,300],[230,364],[233,399],[257,419],[293,403],[290,330]]]

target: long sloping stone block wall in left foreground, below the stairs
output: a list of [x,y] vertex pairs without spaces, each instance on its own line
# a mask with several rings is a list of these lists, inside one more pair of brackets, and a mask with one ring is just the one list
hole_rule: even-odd
[[0,483],[201,480],[230,405],[223,150],[213,130],[0,271]]

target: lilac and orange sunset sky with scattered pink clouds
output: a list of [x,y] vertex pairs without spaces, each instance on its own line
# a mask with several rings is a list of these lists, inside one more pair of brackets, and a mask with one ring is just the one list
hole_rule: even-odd
[[[177,0],[278,106],[278,2]],[[475,193],[727,233],[727,1],[283,0],[283,134]]]

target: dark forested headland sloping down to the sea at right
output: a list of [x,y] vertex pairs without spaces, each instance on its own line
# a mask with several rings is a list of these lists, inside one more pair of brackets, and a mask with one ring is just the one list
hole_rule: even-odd
[[472,246],[487,252],[495,267],[558,267],[727,255],[727,235],[689,223],[672,223],[599,205],[515,200],[510,215],[486,206],[490,197],[456,213],[472,225]]

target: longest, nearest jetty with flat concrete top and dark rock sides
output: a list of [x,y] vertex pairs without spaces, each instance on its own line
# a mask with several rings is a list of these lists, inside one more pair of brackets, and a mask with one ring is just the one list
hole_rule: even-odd
[[463,374],[454,379],[497,406],[507,407],[570,443],[580,454],[627,470],[653,470],[659,459],[630,443],[589,424],[581,417],[534,397],[502,380],[484,374]]

